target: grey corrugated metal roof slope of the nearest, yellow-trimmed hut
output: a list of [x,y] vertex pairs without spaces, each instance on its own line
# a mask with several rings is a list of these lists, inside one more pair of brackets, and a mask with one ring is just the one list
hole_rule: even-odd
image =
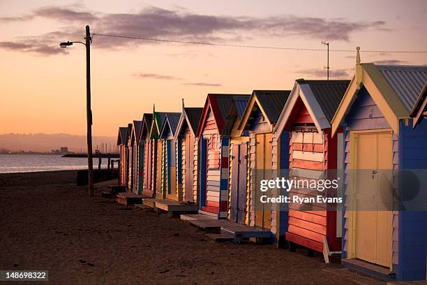
[[427,66],[375,66],[411,112],[427,80]]

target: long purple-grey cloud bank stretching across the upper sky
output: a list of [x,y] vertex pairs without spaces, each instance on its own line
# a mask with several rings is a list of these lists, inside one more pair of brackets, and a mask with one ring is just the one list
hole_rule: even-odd
[[[38,8],[17,17],[2,17],[0,22],[28,21],[43,17],[50,20],[64,22],[68,28],[64,31],[53,31],[49,35],[52,47],[57,47],[59,41],[76,41],[82,38],[83,28],[76,28],[79,24],[89,24],[91,31],[97,34],[113,34],[125,36],[139,36],[145,38],[167,38],[180,41],[215,41],[230,43],[242,41],[242,38],[255,36],[284,36],[303,37],[317,40],[349,41],[350,36],[357,31],[368,29],[385,29],[385,22],[352,22],[345,19],[325,19],[321,17],[302,17],[296,15],[280,15],[272,17],[241,17],[225,15],[202,15],[192,13],[182,8],[163,9],[148,7],[139,13],[96,13],[84,8],[47,6]],[[47,44],[47,35],[43,37],[40,46]],[[53,37],[54,36],[54,37]],[[72,38],[70,36],[78,36]],[[28,38],[36,39],[34,36]],[[24,38],[26,40],[26,38]],[[22,43],[20,40],[17,43]],[[34,41],[33,45],[37,42]],[[107,38],[94,36],[93,44],[98,48],[116,50],[123,47],[132,47],[147,44],[147,41],[135,41],[130,38]],[[38,51],[20,50],[22,52],[36,52],[52,54],[43,48]]]

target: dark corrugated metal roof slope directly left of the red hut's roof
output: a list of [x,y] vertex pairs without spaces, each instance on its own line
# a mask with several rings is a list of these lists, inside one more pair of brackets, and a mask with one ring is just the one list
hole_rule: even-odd
[[253,94],[261,104],[271,124],[276,124],[280,113],[289,98],[290,90],[254,90]]

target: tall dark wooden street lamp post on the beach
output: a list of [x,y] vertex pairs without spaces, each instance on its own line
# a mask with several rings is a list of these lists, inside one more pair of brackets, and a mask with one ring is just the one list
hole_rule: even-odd
[[86,43],[80,41],[60,43],[60,47],[68,47],[73,43],[86,46],[86,115],[87,115],[87,166],[89,176],[89,196],[94,195],[93,189],[93,159],[92,159],[92,110],[91,110],[91,33],[86,26]]

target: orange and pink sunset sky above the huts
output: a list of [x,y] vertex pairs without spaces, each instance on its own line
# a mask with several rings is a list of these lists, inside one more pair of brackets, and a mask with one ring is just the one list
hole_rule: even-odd
[[[0,0],[0,133],[86,133],[84,41],[92,33],[238,45],[361,47],[364,62],[427,64],[426,0],[359,1]],[[94,36],[93,135],[143,112],[202,107],[207,93],[292,89],[326,78],[326,51],[153,43]],[[331,52],[331,78],[350,79],[355,52]]]

